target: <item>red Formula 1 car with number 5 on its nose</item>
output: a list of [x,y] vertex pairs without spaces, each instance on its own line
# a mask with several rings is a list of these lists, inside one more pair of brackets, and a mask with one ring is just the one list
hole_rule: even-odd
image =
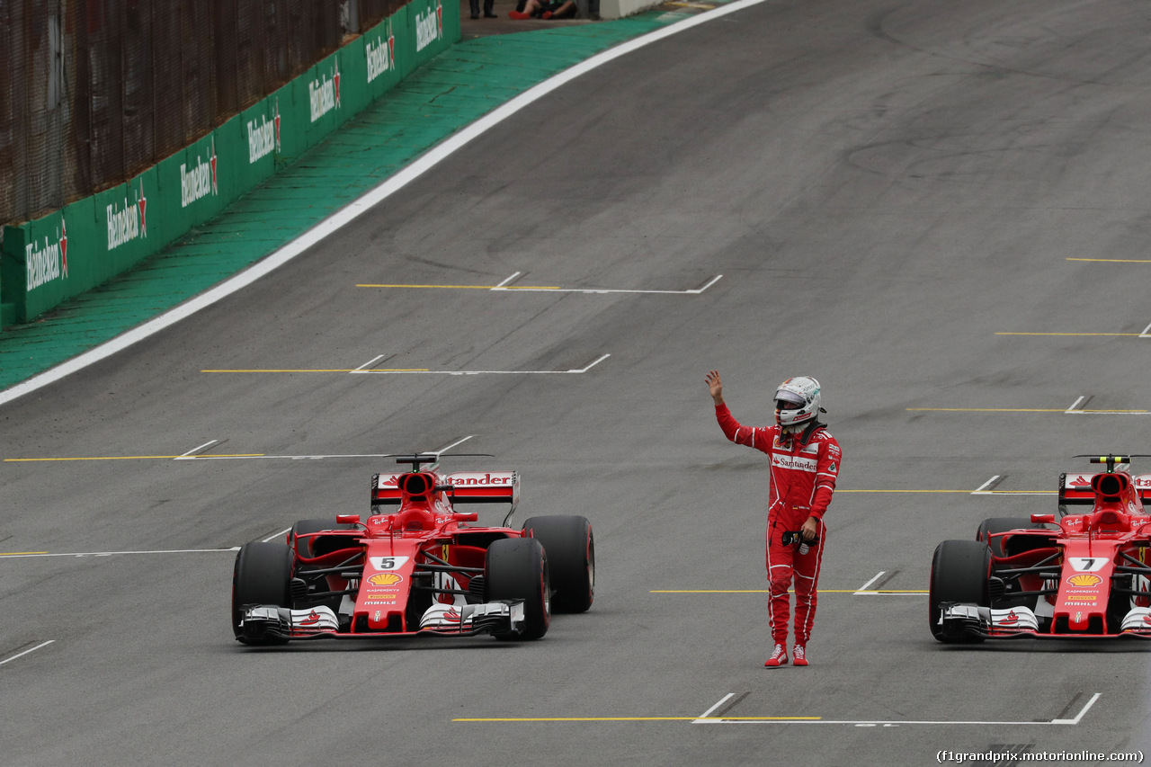
[[[456,456],[452,456],[456,457]],[[372,478],[372,514],[303,519],[287,544],[241,547],[231,624],[246,645],[295,639],[490,633],[539,639],[552,607],[582,613],[595,594],[595,544],[579,516],[508,526],[514,471],[440,472],[440,456],[397,458]],[[508,503],[498,527],[456,503]]]

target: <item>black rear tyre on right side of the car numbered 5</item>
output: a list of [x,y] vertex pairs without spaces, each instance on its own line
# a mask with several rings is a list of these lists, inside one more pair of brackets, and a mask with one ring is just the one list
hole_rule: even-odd
[[543,544],[551,572],[551,609],[586,613],[595,599],[595,538],[586,517],[532,517],[524,534]]

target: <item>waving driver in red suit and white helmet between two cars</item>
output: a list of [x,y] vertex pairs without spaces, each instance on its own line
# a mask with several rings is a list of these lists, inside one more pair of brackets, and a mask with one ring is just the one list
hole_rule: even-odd
[[723,398],[719,371],[707,374],[716,405],[716,420],[724,435],[768,454],[768,614],[775,648],[764,663],[769,668],[787,662],[787,621],[795,587],[795,666],[807,666],[807,643],[815,620],[820,562],[826,539],[823,515],[831,502],[843,457],[839,442],[818,420],[820,382],[801,375],[788,378],[776,390],[776,424],[744,426],[731,415]]

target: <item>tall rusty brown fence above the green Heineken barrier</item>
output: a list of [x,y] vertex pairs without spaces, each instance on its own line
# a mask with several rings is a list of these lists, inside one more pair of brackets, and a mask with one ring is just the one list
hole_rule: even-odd
[[122,183],[405,0],[0,0],[0,223]]

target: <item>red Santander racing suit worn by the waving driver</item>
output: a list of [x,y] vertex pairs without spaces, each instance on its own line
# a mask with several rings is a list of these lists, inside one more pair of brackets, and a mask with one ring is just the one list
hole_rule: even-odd
[[[767,540],[771,637],[776,644],[787,643],[791,613],[787,590],[794,580],[795,644],[806,645],[815,621],[816,585],[828,538],[823,515],[836,489],[843,458],[839,442],[823,424],[808,426],[801,434],[794,435],[780,434],[778,425],[744,426],[725,404],[716,405],[716,420],[729,440],[762,450],[771,458]],[[798,531],[808,517],[818,521],[816,534],[820,540],[808,546],[806,554],[801,554],[795,546],[784,546],[783,533]]]

